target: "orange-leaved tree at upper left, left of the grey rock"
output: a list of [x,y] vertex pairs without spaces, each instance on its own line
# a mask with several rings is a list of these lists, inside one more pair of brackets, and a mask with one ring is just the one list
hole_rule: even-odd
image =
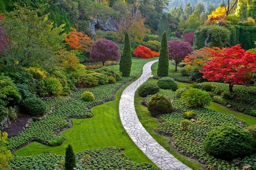
[[65,39],[67,44],[75,50],[81,50],[83,52],[90,52],[93,44],[93,40],[82,32],[77,32],[75,28],[71,28],[71,32]]

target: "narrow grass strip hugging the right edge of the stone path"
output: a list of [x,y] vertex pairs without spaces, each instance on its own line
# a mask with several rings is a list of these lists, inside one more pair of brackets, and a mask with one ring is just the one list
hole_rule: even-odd
[[[148,82],[157,82],[157,80],[150,78],[147,81],[147,83]],[[185,86],[185,84],[183,84],[183,85]],[[178,84],[178,86],[179,86],[179,84]],[[146,107],[144,107],[143,105],[140,104],[142,99],[143,98],[138,95],[138,92],[136,92],[135,98],[134,98],[135,109],[136,109],[138,118],[140,119],[140,122],[143,124],[143,127],[145,127],[145,129],[148,131],[148,133],[150,133],[150,135],[156,141],[158,141],[158,143],[160,143],[166,150],[168,150],[169,153],[171,153],[177,159],[182,161],[184,164],[186,164],[187,166],[191,167],[194,170],[202,170],[203,165],[201,165],[200,163],[198,163],[197,161],[195,161],[192,158],[188,158],[188,157],[183,156],[182,154],[178,153],[175,150],[175,148],[170,146],[169,137],[159,135],[158,133],[156,133],[154,131],[160,125],[160,123],[157,121],[156,118],[153,118],[148,114],[148,109]]]

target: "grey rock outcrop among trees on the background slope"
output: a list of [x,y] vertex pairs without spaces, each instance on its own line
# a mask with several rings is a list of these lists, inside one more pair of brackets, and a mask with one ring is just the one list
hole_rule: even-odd
[[93,20],[89,21],[89,27],[92,32],[92,35],[96,35],[96,30],[101,29],[103,31],[117,31],[118,29],[118,19],[107,16],[107,17],[100,17],[95,16]]

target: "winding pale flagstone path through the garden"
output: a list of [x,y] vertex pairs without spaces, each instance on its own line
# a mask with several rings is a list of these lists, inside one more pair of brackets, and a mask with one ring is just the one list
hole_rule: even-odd
[[135,91],[141,84],[147,81],[148,78],[152,77],[151,66],[155,62],[157,62],[157,60],[146,63],[143,66],[143,74],[140,78],[126,87],[122,92],[119,102],[119,115],[122,125],[134,143],[137,144],[140,150],[142,150],[157,167],[160,167],[162,170],[192,170],[154,140],[137,117],[134,107]]

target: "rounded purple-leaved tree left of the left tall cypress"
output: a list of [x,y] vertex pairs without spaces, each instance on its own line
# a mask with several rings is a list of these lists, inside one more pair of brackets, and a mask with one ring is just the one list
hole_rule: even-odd
[[95,62],[118,61],[120,56],[121,52],[116,43],[107,39],[96,40],[90,52],[90,58]]

